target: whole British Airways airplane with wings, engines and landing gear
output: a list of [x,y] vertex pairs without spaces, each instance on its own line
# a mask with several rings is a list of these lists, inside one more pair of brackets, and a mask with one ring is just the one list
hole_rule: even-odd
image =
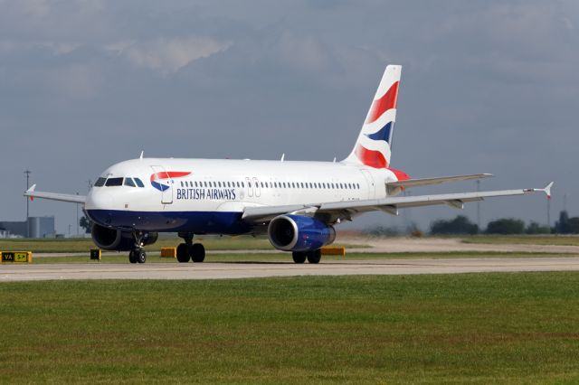
[[368,211],[398,215],[410,207],[447,204],[462,208],[485,198],[545,192],[542,189],[399,196],[403,190],[486,178],[469,174],[413,179],[391,167],[392,140],[402,66],[388,65],[352,152],[342,161],[146,158],[143,153],[111,165],[86,196],[37,192],[24,196],[81,203],[100,249],[129,251],[130,263],[145,263],[144,246],[159,232],[184,239],[179,262],[203,262],[195,235],[267,235],[295,263],[316,264],[320,248],[336,239],[335,226]]

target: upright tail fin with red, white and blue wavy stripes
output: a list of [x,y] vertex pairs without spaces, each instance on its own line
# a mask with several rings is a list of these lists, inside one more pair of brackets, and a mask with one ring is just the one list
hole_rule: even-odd
[[396,120],[396,101],[402,66],[389,65],[365,117],[364,125],[346,163],[388,168],[392,155],[392,136]]

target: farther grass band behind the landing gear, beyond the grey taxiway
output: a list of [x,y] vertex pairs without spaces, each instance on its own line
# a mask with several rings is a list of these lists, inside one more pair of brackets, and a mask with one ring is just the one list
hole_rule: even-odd
[[[253,238],[250,236],[238,237],[214,237],[199,236],[194,239],[196,242],[203,242],[205,249],[211,250],[236,250],[252,249],[267,250],[273,249],[267,238]],[[148,251],[158,251],[161,248],[176,248],[183,242],[177,237],[159,238],[153,245],[147,246]],[[347,245],[351,248],[365,248],[365,245]],[[92,239],[0,239],[0,250],[2,251],[33,251],[34,253],[76,253],[89,252],[96,246]]]

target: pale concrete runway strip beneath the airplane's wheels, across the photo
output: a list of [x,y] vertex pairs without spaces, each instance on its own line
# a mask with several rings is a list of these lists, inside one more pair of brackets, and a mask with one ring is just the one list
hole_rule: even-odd
[[579,271],[579,258],[450,258],[292,262],[0,265],[0,282],[62,279],[225,279],[295,276]]

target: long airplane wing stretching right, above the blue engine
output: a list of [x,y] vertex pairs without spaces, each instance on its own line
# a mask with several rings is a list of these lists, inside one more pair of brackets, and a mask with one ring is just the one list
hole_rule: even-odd
[[417,195],[387,197],[384,199],[372,199],[363,201],[342,201],[331,203],[319,203],[309,205],[284,205],[284,206],[263,206],[246,207],[242,214],[244,221],[271,221],[278,215],[298,214],[316,216],[328,223],[337,220],[350,221],[357,214],[367,211],[384,211],[393,215],[398,215],[398,209],[419,206],[432,206],[437,204],[448,204],[451,207],[461,209],[465,202],[483,201],[485,198],[498,196],[524,195],[531,192],[545,192],[547,198],[551,196],[549,183],[543,189],[519,189],[501,190],[492,192],[458,192],[435,195]]

